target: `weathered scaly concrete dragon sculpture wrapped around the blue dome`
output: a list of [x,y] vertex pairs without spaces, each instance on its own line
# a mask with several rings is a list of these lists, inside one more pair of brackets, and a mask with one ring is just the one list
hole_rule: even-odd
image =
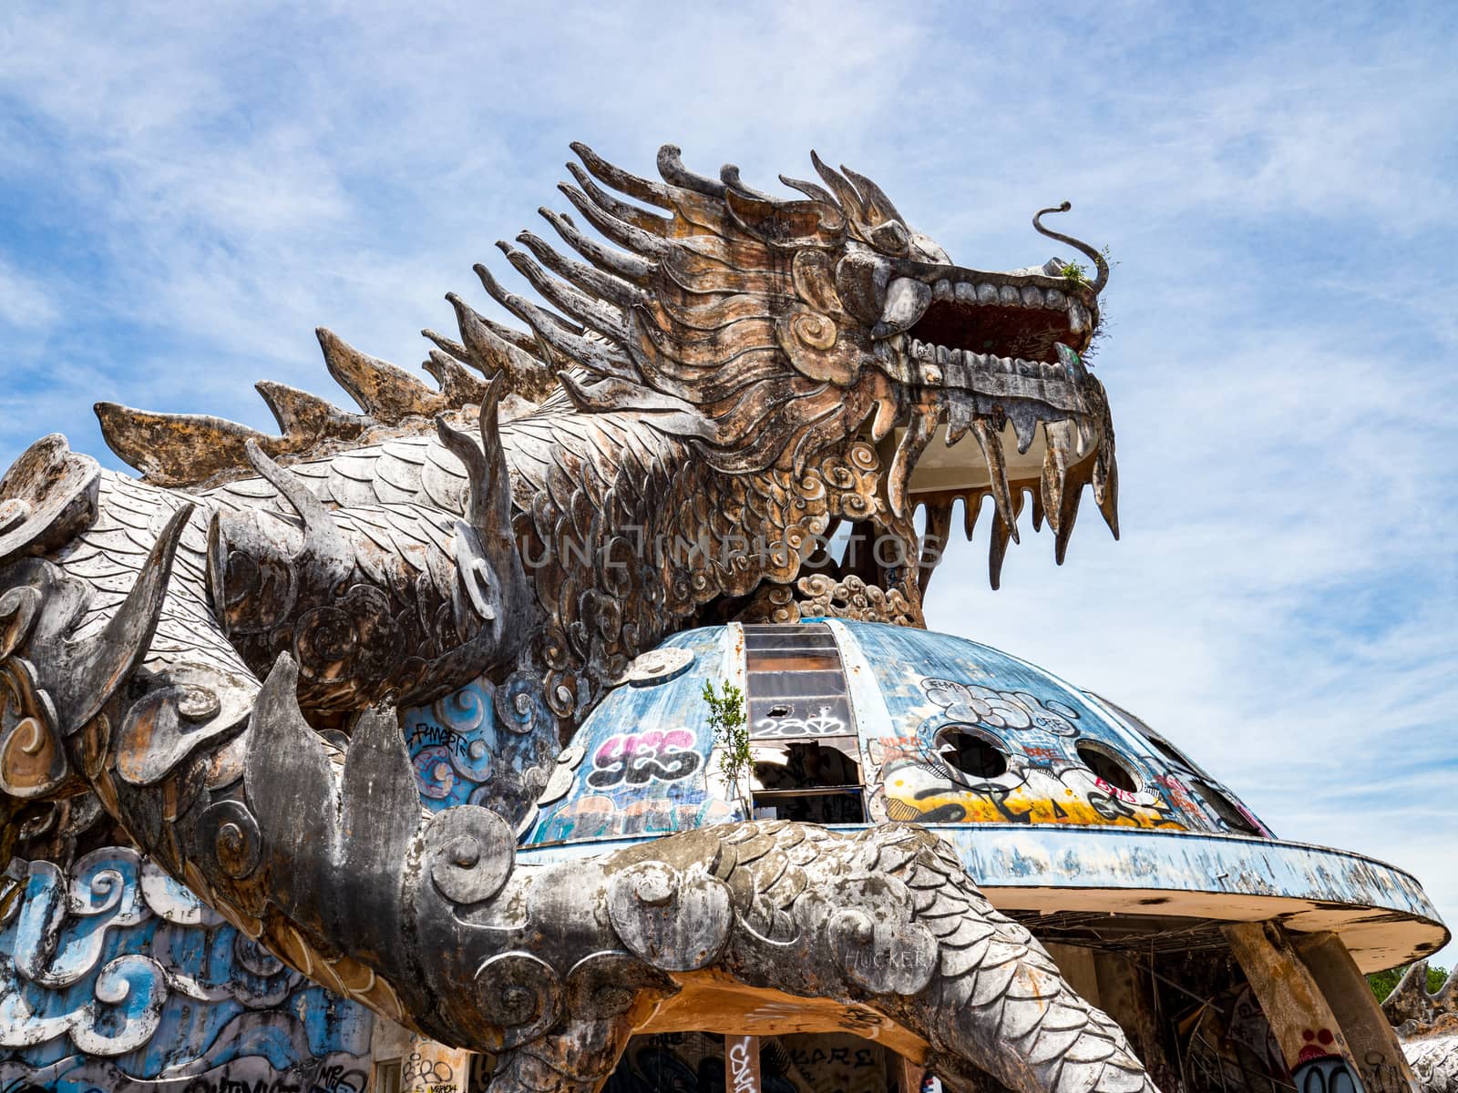
[[[1060,560],[1085,485],[1117,535],[1080,357],[1108,267],[1042,226],[1059,210],[1035,227],[1095,277],[954,265],[819,159],[821,182],[781,178],[787,200],[674,147],[662,181],[574,150],[561,189],[596,233],[542,216],[582,261],[503,243],[545,306],[477,267],[525,329],[448,296],[459,338],[426,331],[437,388],[319,331],[357,412],[277,383],[258,389],[278,434],[101,404],[140,479],[58,434],[10,468],[6,850],[38,810],[99,802],[292,968],[494,1052],[499,1090],[595,1089],[634,1030],[713,1013],[732,1032],[765,998],[809,1026],[859,1014],[954,1089],[1153,1089],[920,828],[739,822],[515,860],[566,734],[675,630],[919,625],[958,500],[971,535],[993,498],[994,586],[1029,494]],[[837,529],[878,549],[837,557]],[[395,710],[474,679],[490,796],[426,813]],[[104,1001],[136,1003],[117,978]]]

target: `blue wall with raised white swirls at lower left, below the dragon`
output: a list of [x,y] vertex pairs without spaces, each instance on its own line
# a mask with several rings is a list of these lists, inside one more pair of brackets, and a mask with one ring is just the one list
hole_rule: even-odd
[[308,1087],[332,1067],[337,1090],[362,1093],[370,1026],[130,848],[67,873],[29,863],[0,921],[4,1087],[140,1092],[176,1074]]

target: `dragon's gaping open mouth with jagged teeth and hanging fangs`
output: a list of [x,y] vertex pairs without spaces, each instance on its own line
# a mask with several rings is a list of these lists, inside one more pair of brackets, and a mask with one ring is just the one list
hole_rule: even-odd
[[[993,498],[993,587],[1029,495],[1034,525],[1047,517],[1063,560],[1076,509],[1069,494],[1098,477],[1099,446],[1112,443],[1107,405],[1092,396],[1101,389],[1080,357],[1098,326],[1096,296],[1066,274],[1057,258],[1010,273],[901,261],[886,286],[873,337],[904,391],[901,420],[882,442],[886,498],[923,592],[958,501],[970,539],[984,498]],[[1099,504],[1108,516],[1102,495]],[[895,583],[898,574],[875,577]]]

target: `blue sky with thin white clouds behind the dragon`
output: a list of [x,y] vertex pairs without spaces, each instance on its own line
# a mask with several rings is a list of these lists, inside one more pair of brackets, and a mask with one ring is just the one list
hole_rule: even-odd
[[[1452,4],[7,4],[0,465],[96,399],[268,427],[413,364],[570,140],[869,173],[952,256],[1108,243],[1124,542],[954,546],[929,618],[1182,742],[1458,922]],[[343,398],[343,396],[341,396]],[[115,461],[109,461],[115,465]],[[1446,955],[1451,956],[1449,949]],[[1451,960],[1449,960],[1451,962]]]

